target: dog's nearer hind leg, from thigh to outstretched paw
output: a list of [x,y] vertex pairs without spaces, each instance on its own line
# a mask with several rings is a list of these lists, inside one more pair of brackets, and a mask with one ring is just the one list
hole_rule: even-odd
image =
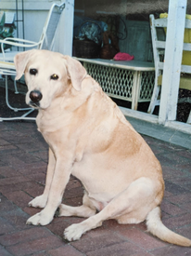
[[[129,213],[135,222],[144,221],[147,213],[156,207],[156,193],[150,179],[139,178],[129,187],[114,197],[108,205],[96,215],[87,220],[70,225],[64,232],[69,241],[78,240],[86,231],[96,228],[101,222],[108,219],[119,219]],[[141,216],[139,216],[141,214]]]

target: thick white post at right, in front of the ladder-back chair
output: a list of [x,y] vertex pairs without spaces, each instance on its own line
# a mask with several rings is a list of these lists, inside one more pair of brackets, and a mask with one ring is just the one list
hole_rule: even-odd
[[176,118],[187,0],[170,0],[162,76],[159,123]]

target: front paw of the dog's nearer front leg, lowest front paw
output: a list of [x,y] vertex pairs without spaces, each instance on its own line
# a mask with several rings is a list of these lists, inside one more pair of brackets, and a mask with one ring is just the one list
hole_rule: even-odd
[[28,225],[32,224],[32,225],[45,226],[45,225],[49,224],[50,222],[52,222],[52,220],[53,220],[53,216],[45,214],[42,210],[41,212],[36,213],[31,218],[29,218],[26,223]]

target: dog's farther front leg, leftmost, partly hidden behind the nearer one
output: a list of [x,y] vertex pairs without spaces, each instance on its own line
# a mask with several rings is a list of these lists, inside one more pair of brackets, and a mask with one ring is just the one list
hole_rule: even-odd
[[45,179],[45,190],[43,195],[36,196],[34,199],[32,199],[31,202],[29,202],[30,207],[35,207],[35,208],[45,208],[45,205],[47,203],[47,198],[51,186],[51,182],[53,180],[53,175],[55,171],[55,165],[56,165],[56,160],[55,160],[55,155],[52,153],[52,150],[49,148],[49,153],[48,153],[48,167],[47,167],[47,173],[46,173],[46,179]]

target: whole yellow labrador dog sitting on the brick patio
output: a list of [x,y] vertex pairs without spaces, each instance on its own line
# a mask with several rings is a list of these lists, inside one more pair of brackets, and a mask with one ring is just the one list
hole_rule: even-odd
[[[72,241],[108,219],[121,224],[146,220],[154,236],[191,246],[160,220],[164,182],[159,161],[83,65],[46,50],[19,53],[15,65],[16,79],[25,74],[26,102],[38,109],[38,130],[49,145],[44,194],[29,203],[43,210],[27,223],[46,225],[57,208],[59,216],[87,218],[65,230]],[[83,183],[80,207],[61,204],[70,174]]]

